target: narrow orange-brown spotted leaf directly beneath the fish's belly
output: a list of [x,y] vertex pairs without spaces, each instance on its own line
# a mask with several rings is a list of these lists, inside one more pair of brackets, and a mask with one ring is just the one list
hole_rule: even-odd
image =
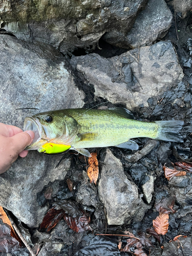
[[99,176],[97,153],[91,153],[91,155],[92,157],[88,158],[88,177],[90,178],[90,183],[94,182],[96,184]]

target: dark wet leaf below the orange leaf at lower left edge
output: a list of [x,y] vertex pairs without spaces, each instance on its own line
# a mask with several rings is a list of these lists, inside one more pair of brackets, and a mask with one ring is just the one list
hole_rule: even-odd
[[19,249],[19,242],[11,236],[11,227],[8,224],[0,225],[0,251],[14,252]]

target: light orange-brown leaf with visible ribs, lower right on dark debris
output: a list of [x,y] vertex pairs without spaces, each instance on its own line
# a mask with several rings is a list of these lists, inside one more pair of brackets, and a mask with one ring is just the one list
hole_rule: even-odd
[[155,220],[153,220],[154,230],[158,234],[166,234],[168,231],[168,214],[164,214],[163,212],[159,212],[159,216]]

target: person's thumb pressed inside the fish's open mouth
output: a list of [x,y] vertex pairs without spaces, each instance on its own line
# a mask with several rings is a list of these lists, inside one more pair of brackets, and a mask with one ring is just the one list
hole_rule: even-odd
[[16,135],[12,136],[11,140],[15,153],[18,155],[23,150],[25,150],[26,146],[32,143],[34,137],[35,134],[32,131],[17,133]]

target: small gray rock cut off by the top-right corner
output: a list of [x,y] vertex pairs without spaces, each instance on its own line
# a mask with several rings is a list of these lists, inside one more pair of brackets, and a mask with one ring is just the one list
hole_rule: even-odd
[[185,18],[192,9],[191,0],[165,0],[168,5],[172,6],[176,12],[182,13],[182,18]]

